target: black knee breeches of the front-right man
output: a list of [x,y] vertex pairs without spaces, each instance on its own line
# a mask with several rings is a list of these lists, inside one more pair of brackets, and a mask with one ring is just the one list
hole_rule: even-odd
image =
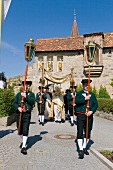
[[[83,133],[86,137],[86,115],[77,114],[77,139],[83,139]],[[88,138],[90,138],[93,126],[93,115],[88,117]]]

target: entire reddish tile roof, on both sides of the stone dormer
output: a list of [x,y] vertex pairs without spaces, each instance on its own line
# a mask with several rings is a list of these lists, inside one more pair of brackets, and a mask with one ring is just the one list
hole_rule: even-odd
[[[83,36],[45,38],[36,42],[36,52],[83,50]],[[113,47],[113,32],[104,34],[103,48]]]

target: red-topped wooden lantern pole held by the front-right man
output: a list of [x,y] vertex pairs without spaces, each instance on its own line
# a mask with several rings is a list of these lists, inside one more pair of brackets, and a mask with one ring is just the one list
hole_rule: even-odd
[[[88,96],[90,95],[90,66],[88,72]],[[90,111],[90,99],[86,103],[86,113]],[[88,116],[86,117],[86,141],[88,140]]]

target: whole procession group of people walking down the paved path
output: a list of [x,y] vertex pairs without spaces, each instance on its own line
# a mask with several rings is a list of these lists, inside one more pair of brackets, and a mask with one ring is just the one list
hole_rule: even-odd
[[[39,92],[35,96],[35,94],[30,91],[32,82],[26,81],[26,91],[19,92],[13,102],[17,112],[17,128],[20,131],[19,135],[22,139],[20,145],[21,153],[27,154],[26,143],[29,134],[31,111],[36,102],[39,124],[44,126],[47,120],[64,123],[65,120],[68,119],[71,126],[74,126],[74,124],[77,125],[79,158],[83,159],[84,154],[89,155],[87,144],[93,126],[93,114],[96,112],[98,103],[95,95],[92,92],[88,92],[88,79],[83,79],[81,83],[83,90],[76,92],[77,86],[70,86],[69,89],[66,89],[65,94],[62,94],[58,86],[56,86],[51,93],[48,86],[44,87],[40,85],[38,87]],[[21,113],[22,118],[20,125]]]

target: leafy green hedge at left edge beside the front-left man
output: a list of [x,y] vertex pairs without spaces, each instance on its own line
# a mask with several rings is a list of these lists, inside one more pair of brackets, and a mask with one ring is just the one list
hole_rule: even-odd
[[0,117],[14,113],[12,102],[15,94],[12,89],[0,89]]

